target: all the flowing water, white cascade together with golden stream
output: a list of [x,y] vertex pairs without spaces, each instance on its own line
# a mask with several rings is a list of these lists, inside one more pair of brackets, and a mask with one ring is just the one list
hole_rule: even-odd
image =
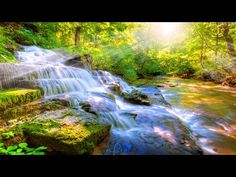
[[[36,46],[24,47],[16,56],[17,64],[0,67],[8,79],[34,81],[44,90],[44,99],[66,98],[78,111],[88,102],[99,122],[112,126],[95,154],[236,153],[236,90],[177,79],[172,80],[179,84],[174,88],[134,87],[106,71],[68,66],[71,56]],[[151,105],[125,101],[110,89],[111,83],[127,93],[140,90]]]

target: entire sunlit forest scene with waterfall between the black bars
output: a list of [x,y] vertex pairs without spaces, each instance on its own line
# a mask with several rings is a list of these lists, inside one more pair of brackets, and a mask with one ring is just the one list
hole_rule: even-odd
[[1,22],[0,154],[236,154],[235,22]]

